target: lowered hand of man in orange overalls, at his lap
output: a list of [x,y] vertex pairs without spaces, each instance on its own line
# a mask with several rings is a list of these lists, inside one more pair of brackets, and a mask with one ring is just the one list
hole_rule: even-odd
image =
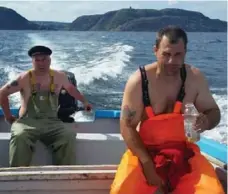
[[163,188],[163,181],[162,179],[157,175],[154,163],[152,160],[148,160],[146,162],[142,162],[142,169],[143,174],[147,180],[147,184],[151,186],[157,186],[158,188]]

